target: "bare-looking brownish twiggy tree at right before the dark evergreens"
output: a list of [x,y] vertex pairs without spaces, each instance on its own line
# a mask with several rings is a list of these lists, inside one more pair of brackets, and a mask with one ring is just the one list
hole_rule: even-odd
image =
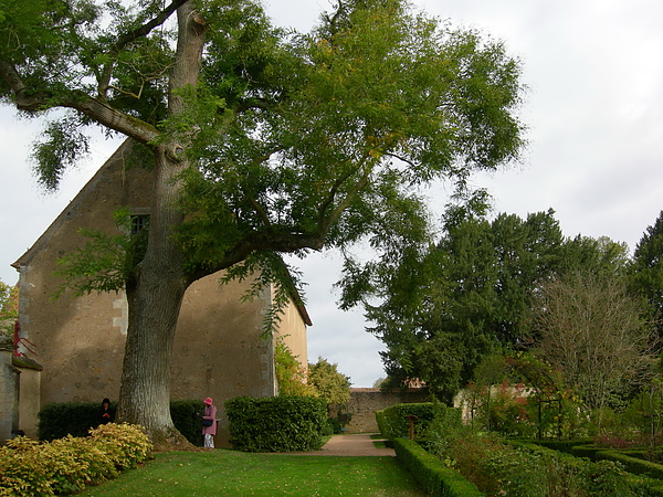
[[651,372],[652,327],[624,278],[572,273],[546,283],[533,306],[536,352],[591,409],[620,405]]

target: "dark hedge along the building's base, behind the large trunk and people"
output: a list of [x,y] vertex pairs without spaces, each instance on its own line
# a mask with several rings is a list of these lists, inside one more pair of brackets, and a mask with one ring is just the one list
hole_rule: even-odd
[[[101,403],[61,402],[45,405],[39,412],[38,437],[53,441],[64,436],[87,436],[90,430],[99,425]],[[115,412],[117,402],[110,403]],[[202,446],[200,415],[204,404],[199,400],[170,402],[170,416],[175,427],[193,445]]]

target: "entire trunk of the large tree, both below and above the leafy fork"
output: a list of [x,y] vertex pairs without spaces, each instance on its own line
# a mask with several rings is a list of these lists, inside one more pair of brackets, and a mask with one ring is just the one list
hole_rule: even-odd
[[[204,20],[192,2],[178,9],[178,46],[170,78],[169,109],[185,110],[177,89],[194,86],[200,73]],[[191,136],[171,136],[152,145],[156,179],[151,197],[145,257],[127,285],[129,321],[119,392],[118,420],[147,429],[158,448],[188,445],[170,417],[170,364],[175,331],[182,298],[191,279],[183,269],[183,255],[173,240],[182,222],[177,208],[181,193],[179,175],[189,166],[186,150]],[[165,140],[166,141],[166,140]]]

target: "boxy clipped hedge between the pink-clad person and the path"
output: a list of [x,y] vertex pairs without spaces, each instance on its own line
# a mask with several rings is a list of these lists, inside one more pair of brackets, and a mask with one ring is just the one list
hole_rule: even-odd
[[315,451],[323,446],[327,403],[313,396],[236,396],[225,402],[230,443],[244,452]]

